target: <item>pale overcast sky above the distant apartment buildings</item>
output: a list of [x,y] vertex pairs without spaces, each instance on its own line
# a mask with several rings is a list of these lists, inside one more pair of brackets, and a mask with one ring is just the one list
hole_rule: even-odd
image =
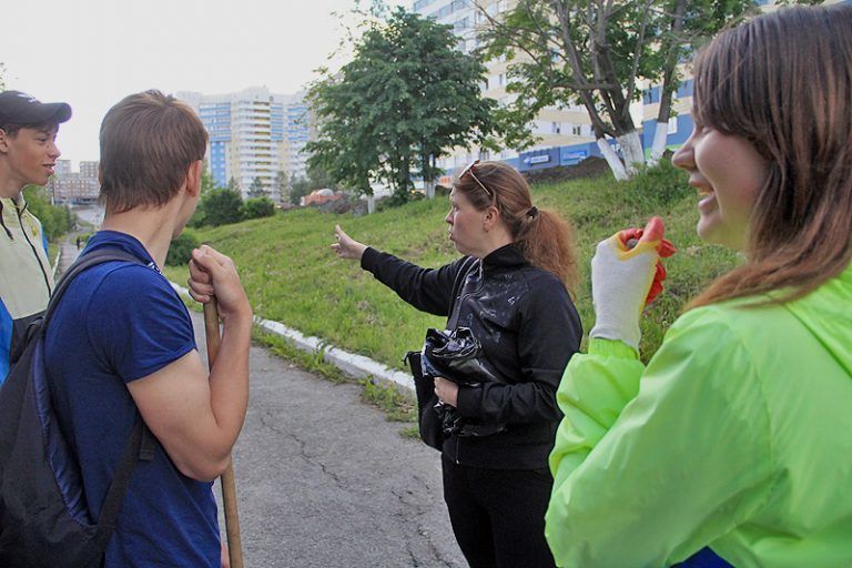
[[[362,2],[362,7],[365,2]],[[392,2],[410,8],[412,2]],[[74,166],[98,160],[106,111],[145,89],[291,94],[339,52],[355,0],[9,0],[0,63],[7,89],[71,104],[57,139]],[[352,21],[349,16],[348,21]]]

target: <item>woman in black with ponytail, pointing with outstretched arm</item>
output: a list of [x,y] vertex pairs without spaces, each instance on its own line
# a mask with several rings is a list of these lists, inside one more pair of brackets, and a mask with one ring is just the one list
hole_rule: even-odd
[[448,316],[448,329],[469,327],[479,339],[496,381],[459,387],[435,379],[462,424],[444,442],[442,460],[453,531],[474,568],[551,567],[544,516],[561,418],[556,389],[582,336],[566,287],[577,281],[571,231],[536,209],[524,178],[500,162],[465,168],[449,200],[449,239],[465,256],[446,266],[422,268],[339,226],[332,248],[359,260],[414,307]]

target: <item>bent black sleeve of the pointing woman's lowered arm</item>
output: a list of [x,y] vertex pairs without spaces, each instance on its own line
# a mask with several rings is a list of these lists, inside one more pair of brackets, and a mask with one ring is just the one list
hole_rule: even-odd
[[561,282],[525,298],[518,327],[515,384],[486,383],[458,390],[462,416],[489,423],[557,422],[556,389],[568,359],[580,348],[582,326]]

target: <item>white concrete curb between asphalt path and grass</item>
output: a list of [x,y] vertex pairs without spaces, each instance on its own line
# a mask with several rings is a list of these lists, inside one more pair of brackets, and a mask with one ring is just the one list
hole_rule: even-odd
[[[189,297],[189,290],[174,282],[170,282],[170,284],[179,294]],[[322,353],[323,361],[336,366],[348,376],[355,378],[373,377],[386,383],[393,383],[403,388],[407,394],[414,396],[414,379],[407,373],[392,369],[364,355],[355,355],[354,353],[331,346],[318,337],[306,336],[302,332],[287,327],[280,322],[254,316],[254,325],[264,332],[283,337],[298,349],[307,353]]]

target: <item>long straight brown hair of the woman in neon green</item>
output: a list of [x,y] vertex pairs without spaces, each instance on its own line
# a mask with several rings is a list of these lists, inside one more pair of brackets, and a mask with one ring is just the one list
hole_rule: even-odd
[[[696,119],[770,164],[748,260],[689,307],[779,291],[788,302],[852,261],[852,6],[787,8],[717,37],[694,64]],[[762,303],[762,302],[761,302]]]

